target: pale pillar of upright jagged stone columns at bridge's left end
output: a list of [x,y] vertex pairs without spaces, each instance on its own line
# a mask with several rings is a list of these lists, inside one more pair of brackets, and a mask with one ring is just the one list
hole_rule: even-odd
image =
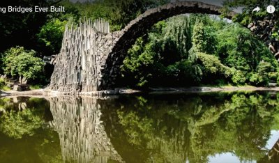
[[110,26],[104,20],[84,20],[79,26],[66,26],[48,88],[70,94],[97,91],[112,39]]

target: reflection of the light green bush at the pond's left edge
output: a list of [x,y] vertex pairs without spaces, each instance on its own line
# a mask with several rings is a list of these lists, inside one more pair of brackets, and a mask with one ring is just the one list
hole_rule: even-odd
[[45,99],[22,97],[0,99],[0,131],[15,139],[33,135],[45,122],[45,108],[47,108]]

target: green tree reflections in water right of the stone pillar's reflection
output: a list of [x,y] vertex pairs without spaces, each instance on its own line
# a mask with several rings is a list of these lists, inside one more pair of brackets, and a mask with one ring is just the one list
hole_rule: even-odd
[[137,149],[143,160],[127,156],[133,162],[208,162],[220,153],[234,153],[240,160],[265,157],[270,130],[279,129],[273,125],[278,123],[277,98],[259,93],[209,96],[120,98],[115,107],[124,134],[112,130],[111,135],[126,137],[130,148]]

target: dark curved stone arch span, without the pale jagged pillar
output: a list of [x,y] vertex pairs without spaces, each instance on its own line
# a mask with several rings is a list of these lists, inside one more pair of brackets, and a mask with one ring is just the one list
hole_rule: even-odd
[[[119,72],[119,66],[122,65],[126,57],[126,52],[135,44],[137,38],[151,29],[153,24],[166,20],[169,17],[185,13],[221,15],[221,10],[222,8],[220,6],[214,6],[199,1],[178,1],[146,10],[145,13],[126,25],[124,29],[113,33],[117,41],[112,51],[108,54],[104,69],[102,70],[103,79],[110,82],[103,82],[100,85],[100,90],[112,88],[114,86],[114,81],[118,76],[117,72]],[[236,13],[231,11],[227,14],[226,18],[231,19],[235,14]]]

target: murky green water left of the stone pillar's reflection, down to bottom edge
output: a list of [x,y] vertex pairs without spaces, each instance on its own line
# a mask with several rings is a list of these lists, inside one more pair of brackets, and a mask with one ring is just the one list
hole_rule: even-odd
[[45,128],[52,121],[43,98],[0,99],[0,162],[63,162],[59,137]]

